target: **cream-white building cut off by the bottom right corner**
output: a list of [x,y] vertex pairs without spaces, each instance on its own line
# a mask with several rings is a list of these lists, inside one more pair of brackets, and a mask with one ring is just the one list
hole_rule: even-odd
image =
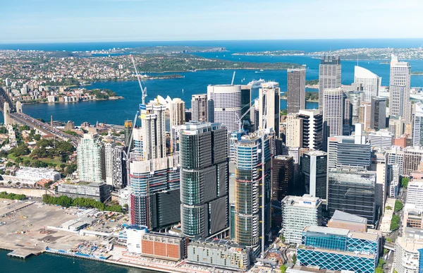
[[398,273],[423,272],[423,241],[417,238],[398,237],[395,243],[393,268]]

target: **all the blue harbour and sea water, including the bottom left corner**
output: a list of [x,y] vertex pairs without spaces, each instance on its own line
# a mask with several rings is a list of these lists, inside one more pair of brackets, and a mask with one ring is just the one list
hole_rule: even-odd
[[[39,50],[92,50],[109,49],[113,47],[140,47],[146,45],[161,44],[187,44],[197,46],[226,47],[228,52],[204,53],[200,56],[210,58],[229,59],[233,61],[255,61],[255,62],[292,62],[305,64],[307,66],[307,80],[318,78],[319,59],[312,59],[307,56],[233,56],[235,52],[262,51],[262,50],[282,50],[299,49],[305,51],[319,51],[353,47],[419,47],[423,40],[286,40],[286,41],[212,41],[212,42],[116,42],[116,43],[78,43],[78,44],[0,44],[0,49],[39,49]],[[354,66],[357,61],[342,62],[342,83],[350,84],[354,80]],[[423,71],[423,60],[410,60],[412,71]],[[382,85],[388,85],[389,65],[381,61],[359,61],[359,65],[382,77]],[[145,82],[149,99],[154,99],[157,95],[166,98],[180,97],[185,101],[187,108],[190,107],[190,97],[193,94],[207,92],[207,85],[231,83],[233,71],[197,71],[180,73],[185,78],[168,80],[148,80]],[[154,75],[154,74],[153,74]],[[250,80],[277,81],[281,90],[286,90],[286,71],[253,71],[240,70],[236,72],[235,84],[243,84]],[[412,76],[411,85],[413,87],[423,86],[423,75]],[[26,104],[23,111],[35,118],[49,120],[53,116],[54,120],[75,121],[80,124],[83,121],[90,123],[107,122],[122,124],[125,119],[133,119],[137,105],[141,102],[141,92],[137,81],[125,82],[101,82],[93,83],[87,88],[108,88],[125,97],[125,99],[98,101],[98,102],[78,102],[67,104]],[[182,92],[184,90],[184,92]],[[258,90],[253,90],[252,99],[258,96]],[[281,109],[286,108],[286,101],[281,101]],[[316,102],[308,102],[307,108],[317,108]],[[1,116],[0,122],[3,121]],[[72,257],[61,257],[57,255],[42,254],[39,257],[17,260],[6,256],[8,251],[0,250],[0,265],[6,272],[149,272],[141,269],[117,267],[102,262],[91,260],[81,260]]]

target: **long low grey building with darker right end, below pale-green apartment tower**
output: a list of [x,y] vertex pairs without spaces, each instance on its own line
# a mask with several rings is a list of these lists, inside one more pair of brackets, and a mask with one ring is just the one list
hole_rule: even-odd
[[111,196],[112,186],[106,183],[61,183],[58,192],[70,198],[91,198],[100,202],[108,200]]

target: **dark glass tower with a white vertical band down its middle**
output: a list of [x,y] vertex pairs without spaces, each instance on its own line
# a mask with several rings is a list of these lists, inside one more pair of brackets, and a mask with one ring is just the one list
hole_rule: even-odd
[[305,151],[302,154],[302,178],[305,193],[326,200],[327,154],[322,151]]

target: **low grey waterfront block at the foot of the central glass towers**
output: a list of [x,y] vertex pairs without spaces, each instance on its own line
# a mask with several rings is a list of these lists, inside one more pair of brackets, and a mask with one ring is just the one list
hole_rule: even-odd
[[247,270],[250,252],[231,241],[199,239],[188,245],[188,262],[209,267]]

